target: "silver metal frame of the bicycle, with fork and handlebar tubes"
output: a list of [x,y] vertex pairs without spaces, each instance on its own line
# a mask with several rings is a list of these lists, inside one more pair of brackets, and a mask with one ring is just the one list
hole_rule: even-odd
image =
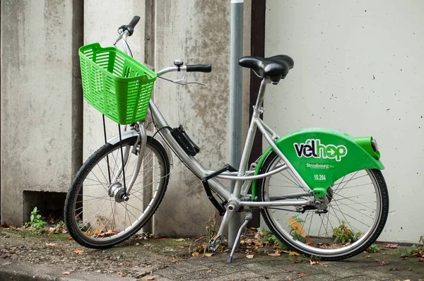
[[[126,43],[126,38],[128,36],[128,33],[125,31],[118,39],[114,42],[114,45],[119,41],[121,38],[123,39],[122,45],[124,47],[124,51],[126,54],[131,55],[131,52],[129,50],[129,47]],[[186,71],[187,66],[171,66],[168,68],[164,68],[161,71],[158,71],[156,74],[158,76],[162,76],[165,73],[172,72],[172,71]],[[263,79],[261,82],[261,86],[259,88],[259,94],[257,97],[256,105],[254,106],[254,111],[252,114],[252,121],[249,125],[249,131],[247,133],[247,139],[245,142],[245,147],[243,149],[242,153],[242,159],[240,161],[240,165],[238,167],[238,172],[223,172],[222,174],[219,174],[218,176],[214,177],[213,179],[209,179],[208,183],[211,189],[218,193],[222,198],[225,199],[225,201],[232,201],[235,202],[236,205],[239,206],[245,206],[245,207],[271,207],[271,206],[302,206],[302,205],[311,205],[310,200],[302,199],[302,200],[288,200],[288,198],[300,198],[302,196],[310,196],[311,195],[311,189],[305,181],[300,177],[300,174],[296,171],[296,169],[291,165],[291,163],[288,161],[287,157],[281,152],[281,150],[278,149],[278,147],[275,144],[275,140],[279,138],[279,136],[272,131],[272,129],[267,126],[264,121],[262,121],[259,118],[259,115],[264,112],[264,108],[261,107],[261,104],[264,100],[264,92],[266,88],[266,84],[271,83],[271,80],[269,79]],[[179,157],[180,160],[186,165],[199,179],[204,179],[209,174],[212,174],[216,171],[211,171],[208,169],[205,169],[201,163],[196,160],[195,157],[187,155],[187,153],[179,146],[175,138],[172,137],[169,130],[166,128],[169,128],[169,125],[167,124],[167,121],[163,117],[163,115],[160,113],[158,107],[156,107],[155,102],[153,100],[150,100],[150,112],[152,114],[153,122],[155,123],[155,126],[158,128],[158,133],[160,133],[160,136],[165,140],[167,145],[170,145],[172,150],[177,154],[177,157]],[[131,187],[134,184],[134,181],[138,175],[139,169],[141,167],[141,162],[143,160],[143,148],[146,145],[146,128],[144,127],[143,122],[137,122],[140,127],[139,132],[139,140],[141,141],[141,151],[139,153],[139,157],[137,160],[136,168],[133,173],[133,177],[131,178],[131,181],[129,183],[129,186],[127,187],[127,194],[131,191]],[[165,128],[165,129],[162,129]],[[278,165],[276,169],[273,169],[270,172],[267,172],[265,174],[259,174],[259,175],[252,175],[254,174],[254,171],[247,170],[248,160],[250,153],[252,152],[252,145],[254,140],[254,135],[257,132],[257,128],[259,131],[261,131],[262,135],[266,139],[266,141],[271,145],[271,148],[273,148],[273,151],[281,157],[284,164]],[[136,147],[137,143],[134,145],[134,148]],[[122,167],[126,165],[126,160],[128,159],[129,155],[129,149],[127,149],[124,153],[124,162],[122,163]],[[122,167],[119,169],[119,171],[122,170]],[[276,174],[278,172],[283,171],[284,169],[290,169],[291,172],[293,172],[294,177],[298,180],[300,183],[300,186],[306,190],[305,192],[300,193],[289,193],[289,194],[281,194],[279,196],[273,196],[273,198],[270,198],[270,201],[262,202],[262,201],[252,201],[252,198],[249,198],[247,195],[247,189],[249,188],[249,184],[252,180],[255,179],[263,179],[265,177],[269,177],[272,174]],[[118,172],[118,174],[114,177],[114,181],[117,181],[119,175],[121,172]],[[230,179],[232,181],[235,181],[235,188],[234,191],[231,193],[218,179]],[[243,184],[245,183],[245,184]],[[243,185],[242,185],[243,184]],[[278,201],[278,199],[284,198],[283,201]],[[274,200],[274,201],[272,201]]]

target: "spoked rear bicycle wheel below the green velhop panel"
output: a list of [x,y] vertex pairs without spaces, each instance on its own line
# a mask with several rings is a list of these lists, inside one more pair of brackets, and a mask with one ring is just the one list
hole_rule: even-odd
[[[282,163],[276,153],[270,153],[261,174]],[[259,181],[262,201],[284,201],[285,196],[302,189],[290,169]],[[389,213],[389,195],[379,170],[365,169],[338,179],[324,200],[326,208],[321,210],[312,206],[272,207],[263,208],[261,214],[271,232],[289,249],[324,261],[355,256],[381,234]]]

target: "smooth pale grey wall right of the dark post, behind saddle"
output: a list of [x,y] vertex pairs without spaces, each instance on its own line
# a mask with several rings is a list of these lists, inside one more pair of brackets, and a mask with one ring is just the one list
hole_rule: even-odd
[[379,142],[390,213],[380,240],[423,235],[424,2],[266,1],[266,55],[295,68],[265,97],[281,134],[324,126]]

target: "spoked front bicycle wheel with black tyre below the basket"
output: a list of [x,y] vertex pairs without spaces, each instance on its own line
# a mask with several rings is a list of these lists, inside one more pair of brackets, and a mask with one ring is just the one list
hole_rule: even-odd
[[[130,165],[135,165],[138,157],[132,150],[136,140],[136,136],[122,140],[122,148],[130,149],[124,169],[126,184],[129,184],[134,173]],[[150,136],[147,137],[143,162],[130,191],[129,201],[119,202],[110,196],[109,193],[114,191],[110,179],[114,173],[119,173],[119,164],[122,163],[120,148],[121,143],[107,143],[99,148],[83,164],[69,187],[64,220],[71,237],[82,246],[104,249],[129,239],[151,219],[165,196],[170,162],[163,145]],[[107,169],[111,172],[111,178]],[[123,186],[122,175],[118,179]],[[95,181],[98,183],[95,184]],[[134,215],[136,212],[141,214]]]

